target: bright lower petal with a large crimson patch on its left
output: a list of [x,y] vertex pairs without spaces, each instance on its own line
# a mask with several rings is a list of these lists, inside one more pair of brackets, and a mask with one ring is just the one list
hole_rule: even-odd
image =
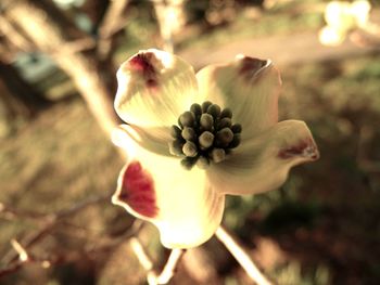
[[112,200],[155,224],[165,247],[191,248],[215,233],[225,198],[210,187],[204,171],[185,170],[177,158],[137,147]]

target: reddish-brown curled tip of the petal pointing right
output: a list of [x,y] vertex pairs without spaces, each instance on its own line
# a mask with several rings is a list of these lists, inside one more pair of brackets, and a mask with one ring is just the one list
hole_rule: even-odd
[[280,150],[278,153],[278,157],[281,159],[288,159],[297,156],[307,158],[309,160],[316,160],[319,158],[318,148],[313,140],[307,139],[300,141],[297,144]]

